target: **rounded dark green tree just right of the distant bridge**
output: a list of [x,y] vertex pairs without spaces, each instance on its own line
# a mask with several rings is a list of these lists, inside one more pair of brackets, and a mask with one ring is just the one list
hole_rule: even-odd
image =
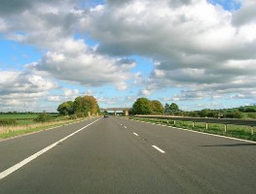
[[153,113],[152,104],[147,98],[138,98],[132,105],[132,113],[148,114]]

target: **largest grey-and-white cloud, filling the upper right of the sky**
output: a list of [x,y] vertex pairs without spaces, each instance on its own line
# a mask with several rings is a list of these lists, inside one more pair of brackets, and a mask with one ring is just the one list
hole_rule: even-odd
[[135,53],[156,62],[140,94],[186,87],[205,97],[256,88],[253,1],[243,1],[235,11],[204,0],[114,2],[91,12],[85,26],[100,41],[100,53]]

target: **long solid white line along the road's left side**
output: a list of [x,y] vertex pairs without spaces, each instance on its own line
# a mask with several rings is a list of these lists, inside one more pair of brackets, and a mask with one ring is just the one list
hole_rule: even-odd
[[89,127],[91,124],[93,124],[94,122],[98,121],[101,118],[98,118],[96,120],[94,120],[93,122],[91,122],[90,124],[84,126],[83,128],[75,131],[74,133],[66,136],[65,138],[55,142],[53,145],[51,146],[47,146],[45,148],[43,148],[42,150],[34,153],[33,155],[27,157],[26,159],[22,160],[21,162],[19,162],[18,164],[14,165],[13,167],[5,170],[4,172],[0,173],[0,180],[3,178],[6,178],[7,176],[11,175],[12,173],[14,173],[15,171],[17,171],[19,168],[21,168],[22,166],[26,165],[27,163],[31,162],[32,160],[34,160],[35,158],[37,158],[38,156],[42,155],[43,153],[47,152],[48,150],[50,150],[51,148],[55,147],[56,145],[58,145],[59,143],[65,141],[66,139],[70,138],[71,136],[74,136],[75,134],[77,134],[78,132],[82,131],[83,129]]

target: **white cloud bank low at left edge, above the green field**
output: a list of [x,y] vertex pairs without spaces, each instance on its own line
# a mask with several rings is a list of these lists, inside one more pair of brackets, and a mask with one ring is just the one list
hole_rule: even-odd
[[[46,78],[18,71],[0,71],[0,105],[2,111],[39,111],[37,105],[58,85]],[[41,111],[41,110],[40,110]]]

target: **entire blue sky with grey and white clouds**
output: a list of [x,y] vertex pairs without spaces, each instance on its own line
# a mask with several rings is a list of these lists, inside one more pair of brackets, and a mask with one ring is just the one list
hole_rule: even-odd
[[255,0],[1,0],[0,112],[92,95],[183,111],[254,105]]

